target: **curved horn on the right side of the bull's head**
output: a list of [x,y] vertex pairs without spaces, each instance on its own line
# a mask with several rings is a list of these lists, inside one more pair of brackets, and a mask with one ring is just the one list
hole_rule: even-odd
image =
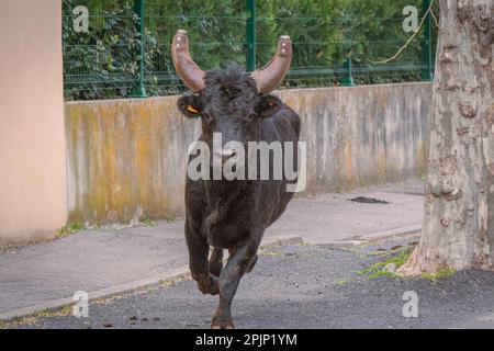
[[283,80],[292,61],[292,41],[290,36],[282,35],[278,42],[278,49],[271,61],[252,72],[257,89],[262,94],[269,94]]

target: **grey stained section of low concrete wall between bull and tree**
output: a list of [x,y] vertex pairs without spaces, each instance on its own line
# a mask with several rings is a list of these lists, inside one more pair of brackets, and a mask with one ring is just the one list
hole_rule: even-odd
[[303,120],[310,194],[418,178],[431,83],[280,91]]

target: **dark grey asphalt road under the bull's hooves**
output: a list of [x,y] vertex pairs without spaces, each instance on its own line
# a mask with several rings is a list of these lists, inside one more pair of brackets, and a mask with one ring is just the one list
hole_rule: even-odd
[[[400,251],[407,238],[353,249],[278,247],[260,256],[234,299],[237,328],[494,328],[494,272],[464,271],[437,281],[369,278],[362,270]],[[395,247],[394,251],[390,251]],[[386,251],[388,250],[388,251]],[[379,253],[379,254],[378,254]],[[360,272],[360,274],[359,274]],[[418,317],[404,317],[405,292]],[[58,314],[8,328],[209,328],[217,297],[184,279],[90,302],[89,317]]]

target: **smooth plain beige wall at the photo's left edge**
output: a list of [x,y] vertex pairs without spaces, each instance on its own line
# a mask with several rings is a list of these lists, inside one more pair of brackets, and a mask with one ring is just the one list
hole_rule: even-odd
[[61,1],[0,1],[0,246],[67,219]]

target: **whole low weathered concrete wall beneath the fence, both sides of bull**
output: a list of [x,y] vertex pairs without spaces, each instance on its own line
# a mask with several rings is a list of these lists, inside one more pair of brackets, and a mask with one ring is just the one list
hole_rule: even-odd
[[[307,141],[306,194],[425,172],[430,83],[285,90]],[[137,222],[183,213],[187,147],[200,132],[176,97],[66,104],[72,222]]]

